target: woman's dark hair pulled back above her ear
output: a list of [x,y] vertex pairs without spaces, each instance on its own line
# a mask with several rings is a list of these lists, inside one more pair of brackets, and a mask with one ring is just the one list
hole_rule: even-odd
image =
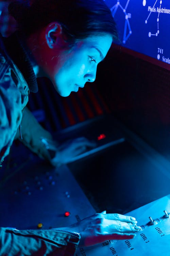
[[111,10],[103,0],[33,0],[32,5],[29,1],[14,1],[8,11],[26,36],[56,21],[70,41],[98,32],[111,34],[113,41],[118,38]]

